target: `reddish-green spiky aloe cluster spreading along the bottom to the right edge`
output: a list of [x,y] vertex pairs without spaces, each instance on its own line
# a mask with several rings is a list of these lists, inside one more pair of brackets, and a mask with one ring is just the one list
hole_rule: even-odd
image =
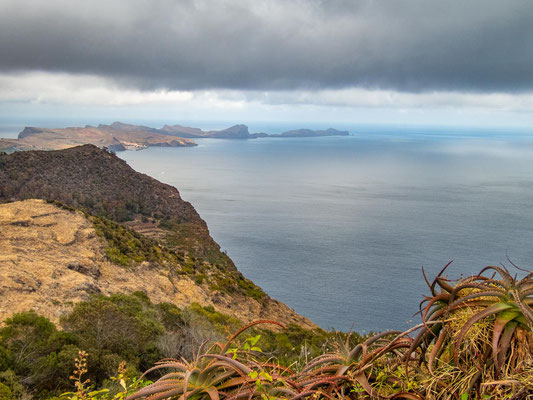
[[446,267],[426,278],[422,323],[408,331],[355,346],[339,339],[334,351],[292,371],[264,359],[259,337],[239,342],[253,325],[280,325],[256,321],[192,361],[162,360],[147,373],[169,372],[128,399],[533,398],[533,273],[518,279],[489,266],[452,281]]

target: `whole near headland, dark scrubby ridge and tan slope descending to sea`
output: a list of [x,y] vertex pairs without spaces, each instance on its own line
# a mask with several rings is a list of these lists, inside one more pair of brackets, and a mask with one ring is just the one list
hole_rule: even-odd
[[[85,275],[83,284],[79,282],[82,286],[88,285],[86,290],[79,292],[82,294],[75,295],[77,289],[74,287],[61,286],[60,292],[70,293],[68,297],[71,299],[50,300],[53,303],[75,302],[94,290],[102,293],[144,290],[156,302],[161,300],[154,297],[156,292],[166,293],[167,300],[164,301],[173,299],[172,302],[177,302],[178,305],[193,301],[203,305],[212,304],[217,310],[236,315],[244,321],[273,318],[302,326],[314,326],[244,278],[231,259],[220,251],[218,244],[209,235],[205,222],[190,203],[181,199],[176,188],[134,171],[112,153],[85,145],[52,152],[27,151],[0,155],[0,203],[36,198],[59,201],[84,211],[85,219],[92,221],[100,235],[100,239],[89,240],[93,233],[87,227],[88,222],[80,222],[81,214],[74,211],[38,211],[38,208],[52,207],[42,202],[39,207],[34,202],[22,203],[26,204],[21,208],[22,211],[16,211],[18,209],[15,204],[18,203],[2,205],[7,211],[4,212],[4,225],[0,229],[3,234],[12,232],[15,235],[3,235],[4,242],[0,243],[0,263],[5,271],[18,271],[18,274],[27,276],[24,271],[47,270],[49,276],[52,276],[54,272],[51,268],[54,264],[63,265],[61,268],[65,276],[70,276],[72,271],[78,274],[80,271],[93,271]],[[24,218],[17,220],[14,217],[17,213]],[[70,218],[70,228],[53,231],[52,227],[56,222],[53,219],[48,221],[48,216],[45,219],[41,216],[47,213],[50,218],[54,215],[64,218],[67,214],[71,217],[73,215],[78,218],[78,222]],[[48,222],[39,228],[35,224],[41,221]],[[33,228],[27,229],[29,226]],[[32,233],[40,229],[40,234]],[[82,246],[84,250],[69,248],[76,243],[72,242],[73,239],[65,240],[67,244],[60,239],[53,239],[69,230],[79,232],[69,237],[87,239]],[[96,244],[99,240],[105,241],[100,244],[100,248]],[[68,244],[71,242],[72,244]],[[8,243],[11,245],[8,246]],[[14,246],[12,243],[18,244]],[[37,243],[40,244],[37,246]],[[32,247],[34,244],[37,247]],[[44,251],[60,245],[67,246],[62,247],[63,256],[71,258],[63,259],[61,252],[48,254]],[[31,256],[26,257],[30,253]],[[90,255],[84,258],[81,254],[85,253]],[[36,261],[31,261],[32,259]],[[45,268],[44,265],[48,267]],[[118,275],[134,271],[134,275],[141,278],[134,279],[133,276],[132,280],[124,281],[130,282],[126,286],[105,283],[107,281],[102,281],[101,277],[106,270],[113,270]],[[30,274],[35,275],[35,272]],[[81,279],[79,275],[74,276],[78,278],[73,282]],[[12,299],[17,290],[21,296],[34,298],[34,293],[38,292],[35,282],[41,282],[39,288],[43,288],[42,296],[46,297],[46,293],[51,290],[50,285],[42,283],[46,279],[42,276],[37,276],[36,280],[29,275],[27,277],[29,281],[21,276],[12,280],[15,283],[22,282],[21,286],[17,289],[12,284],[9,294],[2,295],[0,301],[5,303]],[[154,279],[162,279],[161,283],[154,286],[159,288],[154,289],[155,292],[150,289]],[[31,287],[35,291],[25,290],[25,287]],[[37,303],[40,301],[42,300],[35,300]],[[37,304],[35,302],[33,304]],[[21,304],[24,302],[21,301]],[[10,308],[8,305],[2,307]]]

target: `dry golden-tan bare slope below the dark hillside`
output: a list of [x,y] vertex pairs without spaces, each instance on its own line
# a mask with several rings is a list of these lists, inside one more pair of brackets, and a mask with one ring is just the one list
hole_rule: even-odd
[[265,307],[246,296],[214,293],[177,265],[111,263],[105,238],[83,213],[43,200],[0,204],[0,321],[34,309],[57,323],[74,303],[91,294],[143,291],[156,303],[212,305],[243,321],[281,319],[303,326],[310,321],[282,303]]

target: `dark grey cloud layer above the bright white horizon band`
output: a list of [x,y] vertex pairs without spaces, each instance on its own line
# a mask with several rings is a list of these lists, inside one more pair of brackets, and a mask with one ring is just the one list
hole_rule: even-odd
[[0,0],[0,69],[142,89],[531,91],[533,2]]

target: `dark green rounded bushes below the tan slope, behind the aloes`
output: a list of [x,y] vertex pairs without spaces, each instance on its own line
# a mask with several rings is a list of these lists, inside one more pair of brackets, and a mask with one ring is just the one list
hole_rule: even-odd
[[[224,340],[241,325],[213,307],[153,304],[142,292],[78,303],[62,318],[61,330],[33,311],[15,314],[0,328],[0,399],[49,398],[71,390],[69,377],[81,350],[88,354],[83,376],[90,380],[88,386],[118,390],[110,377],[121,363],[127,371],[123,375],[132,381],[160,359],[193,359],[202,346]],[[320,354],[334,336],[297,326],[252,333],[262,335],[265,355],[300,364]]]

